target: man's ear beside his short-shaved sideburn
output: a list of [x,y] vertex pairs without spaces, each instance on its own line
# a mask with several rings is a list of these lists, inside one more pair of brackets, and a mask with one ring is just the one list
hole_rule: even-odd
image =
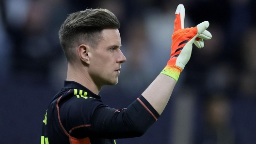
[[88,55],[88,52],[90,51],[90,47],[85,44],[81,44],[78,47],[78,55],[80,57],[80,60],[82,62],[85,62],[86,64],[90,64],[90,57]]

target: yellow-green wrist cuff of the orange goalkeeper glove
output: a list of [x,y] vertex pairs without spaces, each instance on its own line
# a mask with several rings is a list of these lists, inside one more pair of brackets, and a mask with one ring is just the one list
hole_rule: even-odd
[[160,73],[172,77],[177,82],[180,72],[182,72],[182,69],[177,67],[176,65],[167,65]]

